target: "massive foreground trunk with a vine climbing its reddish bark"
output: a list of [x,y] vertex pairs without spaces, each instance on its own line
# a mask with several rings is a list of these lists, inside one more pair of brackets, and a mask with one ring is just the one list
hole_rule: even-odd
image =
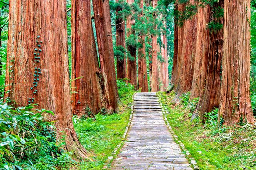
[[72,123],[66,1],[10,1],[8,31],[4,97],[16,106],[37,103],[38,109],[52,110],[54,115],[46,116],[55,121],[57,138],[65,135],[64,149],[86,157]]

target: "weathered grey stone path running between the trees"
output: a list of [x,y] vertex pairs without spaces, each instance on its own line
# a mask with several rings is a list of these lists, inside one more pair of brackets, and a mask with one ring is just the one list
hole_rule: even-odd
[[112,170],[192,170],[174,142],[156,93],[136,93],[127,139]]

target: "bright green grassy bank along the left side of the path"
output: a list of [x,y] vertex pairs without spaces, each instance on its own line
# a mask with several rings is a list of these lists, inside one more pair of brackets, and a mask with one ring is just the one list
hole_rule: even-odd
[[[112,115],[95,115],[94,118],[79,119],[74,117],[74,128],[80,143],[90,153],[91,160],[83,160],[74,169],[102,170],[108,156],[122,142],[126,125],[128,124],[134,87],[123,80],[117,80],[118,94],[122,104],[120,112]],[[109,167],[110,164],[107,164]]]

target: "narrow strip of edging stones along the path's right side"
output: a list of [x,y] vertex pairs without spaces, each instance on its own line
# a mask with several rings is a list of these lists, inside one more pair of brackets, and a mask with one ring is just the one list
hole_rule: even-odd
[[[156,95],[158,96],[158,100],[159,100],[159,99],[160,99],[160,95],[159,95],[158,93],[156,93]],[[190,161],[190,163],[191,163],[191,165],[192,165],[192,168],[193,168],[194,170],[200,170],[200,168],[199,168],[199,166],[198,166],[196,160],[192,157],[192,155],[190,154],[190,152],[188,151],[188,149],[186,149],[185,145],[184,145],[181,141],[179,141],[178,136],[177,136],[177,135],[174,133],[174,131],[172,130],[172,127],[170,126],[170,123],[169,123],[169,121],[168,121],[168,119],[167,119],[167,117],[166,117],[166,115],[167,115],[167,114],[170,114],[170,113],[169,113],[168,110],[162,105],[162,102],[161,102],[160,100],[159,100],[159,103],[160,103],[160,106],[161,106],[161,108],[162,108],[162,112],[163,112],[163,115],[164,115],[164,121],[165,121],[165,123],[166,123],[166,125],[167,125],[167,127],[168,127],[168,129],[169,129],[169,131],[170,131],[170,133],[172,134],[174,140],[175,140],[176,143],[180,146],[180,149],[185,152],[186,157],[188,158],[188,160]]]

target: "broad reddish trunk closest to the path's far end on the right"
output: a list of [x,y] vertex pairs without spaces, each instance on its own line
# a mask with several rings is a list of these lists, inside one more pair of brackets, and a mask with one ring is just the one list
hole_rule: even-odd
[[[196,1],[190,0],[188,3],[195,4]],[[183,38],[178,37],[178,80],[177,86],[175,86],[177,96],[190,91],[192,85],[196,52],[197,14],[190,20],[186,20],[183,27],[184,31],[178,31],[178,34],[183,34]]]

